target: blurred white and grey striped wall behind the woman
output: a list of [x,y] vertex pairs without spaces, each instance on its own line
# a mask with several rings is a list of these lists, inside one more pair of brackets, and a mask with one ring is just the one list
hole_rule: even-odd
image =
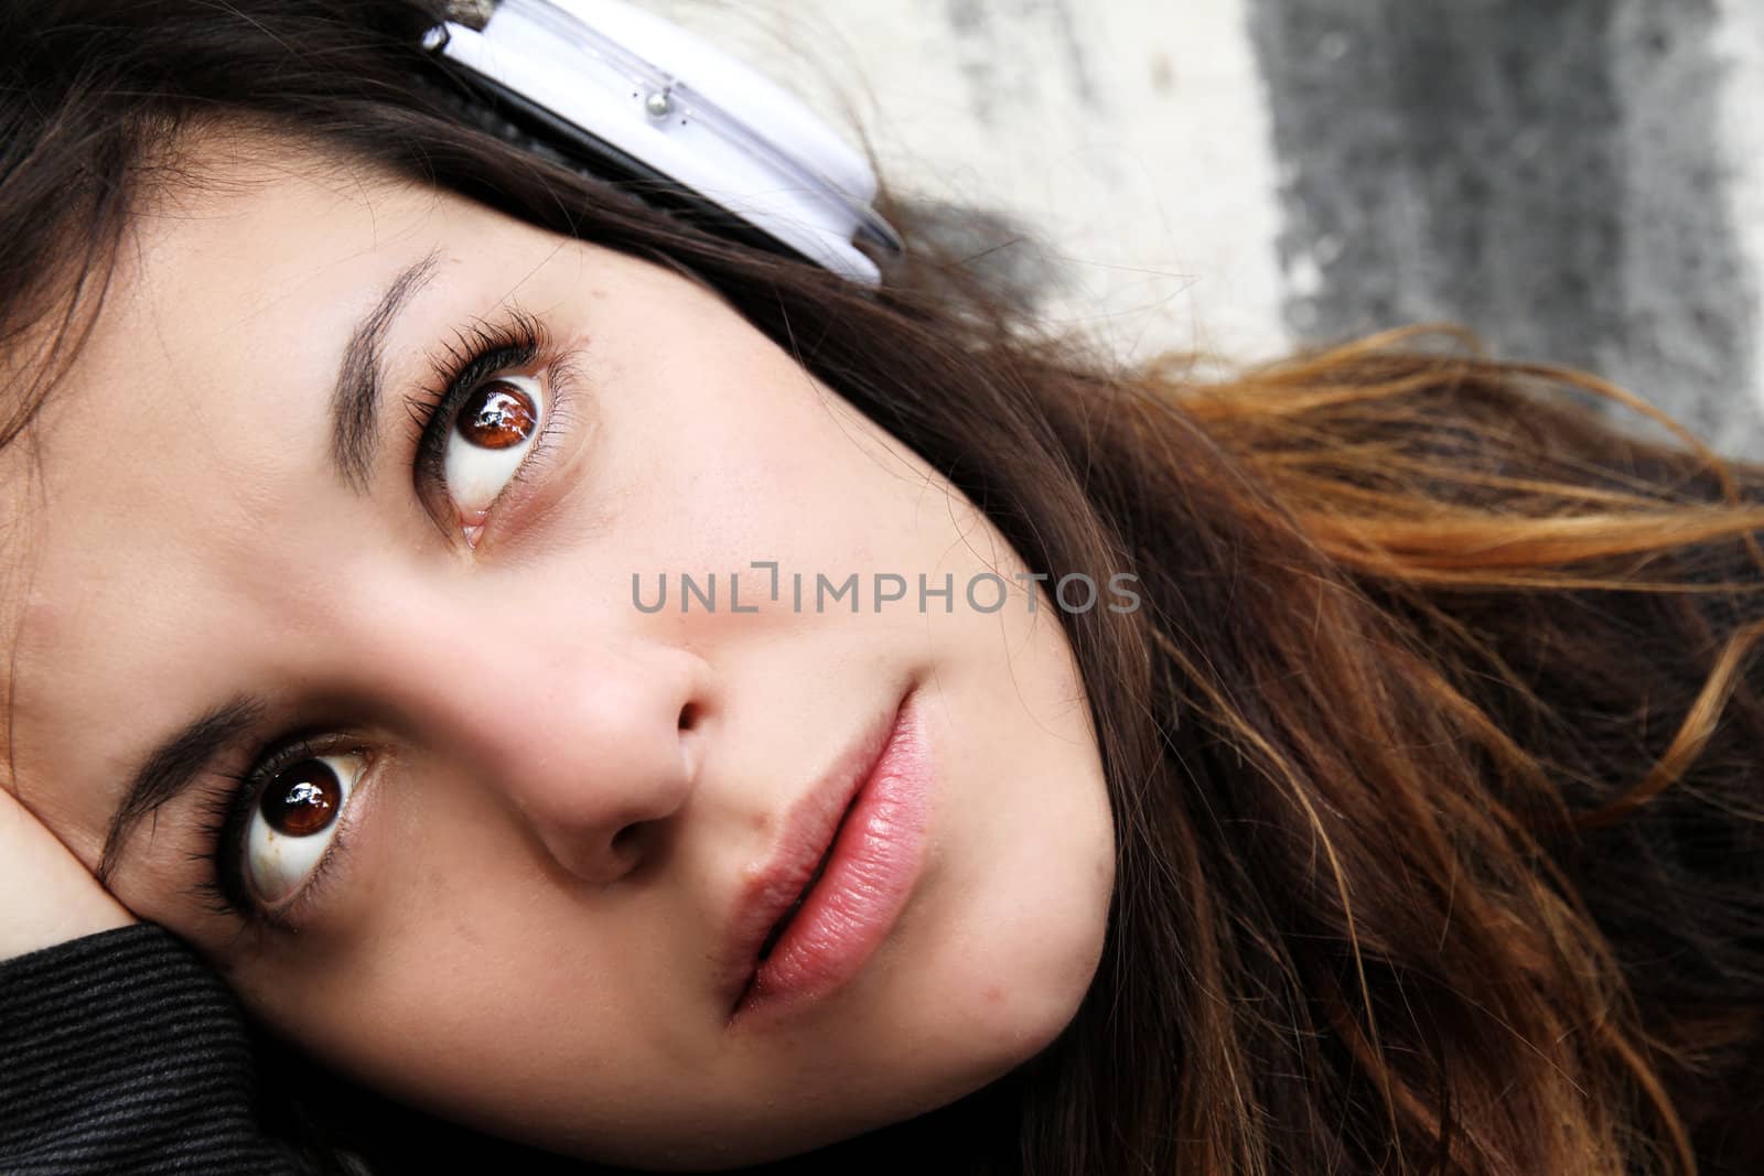
[[1122,358],[1450,319],[1764,458],[1759,0],[646,7]]

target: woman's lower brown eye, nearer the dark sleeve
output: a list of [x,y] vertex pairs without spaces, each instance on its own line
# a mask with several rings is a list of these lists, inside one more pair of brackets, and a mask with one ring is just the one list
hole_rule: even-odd
[[307,756],[263,786],[245,834],[245,882],[265,906],[307,883],[330,850],[344,806],[367,770],[367,755]]

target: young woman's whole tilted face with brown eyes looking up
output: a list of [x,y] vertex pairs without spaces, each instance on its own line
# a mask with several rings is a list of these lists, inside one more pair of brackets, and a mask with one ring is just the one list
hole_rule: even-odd
[[93,867],[139,813],[115,894],[319,1056],[582,1155],[801,1151],[1044,1047],[1115,867],[1057,569],[691,280],[258,159],[139,219],[7,457],[26,802]]

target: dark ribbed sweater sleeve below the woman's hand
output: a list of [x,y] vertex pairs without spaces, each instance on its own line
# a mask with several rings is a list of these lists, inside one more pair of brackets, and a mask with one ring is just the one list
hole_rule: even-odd
[[256,1120],[243,1014],[153,924],[0,963],[0,1171],[291,1176]]

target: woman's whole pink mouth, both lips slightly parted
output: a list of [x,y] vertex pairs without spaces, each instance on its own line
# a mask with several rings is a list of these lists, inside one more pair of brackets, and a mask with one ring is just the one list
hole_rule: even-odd
[[[916,693],[852,746],[803,797],[767,864],[736,904],[730,1024],[820,1000],[856,977],[887,938],[924,857],[930,755]],[[826,867],[808,894],[803,887]],[[803,897],[781,938],[760,947]]]

